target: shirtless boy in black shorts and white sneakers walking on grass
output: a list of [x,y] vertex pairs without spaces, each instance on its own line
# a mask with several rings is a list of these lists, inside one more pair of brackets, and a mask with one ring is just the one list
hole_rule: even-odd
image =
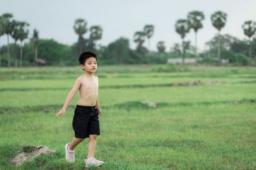
[[94,157],[97,135],[100,134],[99,115],[101,115],[100,104],[98,99],[99,78],[93,73],[97,70],[97,55],[90,51],[84,51],[79,56],[79,63],[84,70],[84,74],[76,79],[74,87],[68,93],[67,99],[63,108],[56,114],[64,116],[68,104],[72,101],[79,89],[79,101],[77,102],[74,118],[72,122],[75,131],[75,138],[69,144],[65,145],[66,160],[69,163],[75,161],[74,148],[81,143],[85,138],[89,138],[88,156],[84,159],[86,167],[100,166],[103,161],[97,160]]

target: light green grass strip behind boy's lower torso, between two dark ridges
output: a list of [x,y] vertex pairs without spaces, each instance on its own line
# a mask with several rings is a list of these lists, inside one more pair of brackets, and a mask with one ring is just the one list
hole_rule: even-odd
[[[65,102],[68,92],[69,90],[4,91],[1,92],[4,100],[0,107],[60,105]],[[102,89],[99,90],[99,101],[102,106],[146,99],[155,103],[229,101],[256,98],[255,94],[255,84]],[[77,92],[70,104],[76,105],[78,99]]]

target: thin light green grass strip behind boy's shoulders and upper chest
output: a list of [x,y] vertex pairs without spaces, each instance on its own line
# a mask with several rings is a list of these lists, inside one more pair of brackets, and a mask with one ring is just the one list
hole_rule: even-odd
[[[0,81],[0,90],[12,90],[12,89],[72,89],[76,77],[72,79],[63,80],[6,80]],[[152,81],[154,80],[154,81]],[[252,81],[252,78],[200,78],[200,77],[128,77],[128,78],[100,78],[100,87],[103,89],[106,87],[122,87],[127,85],[161,85],[170,84],[175,82],[187,82],[200,80],[206,81],[225,81],[226,83],[239,83]]]

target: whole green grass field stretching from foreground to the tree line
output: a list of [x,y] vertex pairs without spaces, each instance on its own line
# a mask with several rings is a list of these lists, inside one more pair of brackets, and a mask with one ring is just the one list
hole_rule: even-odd
[[[189,67],[156,73],[157,66],[99,66],[100,136],[96,169],[256,169],[256,67]],[[61,109],[79,67],[0,69],[0,169],[14,169],[23,146],[57,152],[19,169],[84,169],[87,141],[76,162],[65,160],[74,137],[76,94]],[[214,85],[171,83],[220,81]],[[141,101],[157,104],[150,108]]]

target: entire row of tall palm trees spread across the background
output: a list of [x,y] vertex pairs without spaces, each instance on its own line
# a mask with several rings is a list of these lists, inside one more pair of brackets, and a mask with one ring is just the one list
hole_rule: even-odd
[[[9,36],[15,41],[15,66],[17,67],[17,52],[16,52],[16,43],[20,41],[20,66],[22,66],[22,42],[24,39],[28,38],[29,24],[27,22],[19,22],[13,20],[13,15],[11,13],[4,13],[0,16],[0,38],[4,34],[7,35],[8,43],[8,67],[10,67],[10,47],[9,47]],[[196,61],[198,60],[197,53],[197,32],[199,29],[202,29],[202,21],[205,19],[204,13],[201,11],[191,11],[188,13],[187,18],[177,20],[175,24],[175,31],[180,34],[182,38],[182,64],[184,64],[184,53],[185,53],[185,43],[184,38],[186,34],[193,29],[195,32],[195,56]],[[212,25],[218,30],[218,60],[220,63],[220,31],[225,26],[227,22],[227,13],[223,11],[216,11],[211,15]],[[78,34],[78,44],[80,52],[83,50],[84,38],[83,35],[88,31],[86,28],[87,22],[83,18],[77,18],[74,24],[74,31]],[[249,55],[250,62],[252,62],[252,52],[251,52],[251,38],[256,32],[256,22],[248,20],[242,25],[244,34],[249,38]],[[140,49],[147,38],[148,40],[148,50],[150,51],[150,38],[154,34],[154,25],[145,25],[143,31],[136,31],[134,33],[134,42],[138,43],[137,49]],[[99,25],[93,25],[90,27],[90,38],[88,39],[88,46],[93,48],[95,42],[102,38],[102,28]],[[34,29],[33,36],[31,38],[35,47],[35,60],[37,59],[37,43],[38,43],[38,31]],[[165,46],[163,41],[157,43],[157,48],[159,52],[164,52]],[[149,55],[148,55],[149,57]],[[1,67],[1,44],[0,44],[0,67]]]

